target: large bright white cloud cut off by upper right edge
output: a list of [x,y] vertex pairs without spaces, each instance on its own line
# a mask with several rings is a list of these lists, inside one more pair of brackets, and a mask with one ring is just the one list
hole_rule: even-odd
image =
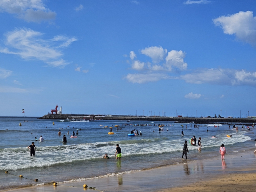
[[220,16],[213,19],[213,22],[216,26],[221,26],[225,34],[234,34],[237,40],[256,46],[256,17],[252,11]]

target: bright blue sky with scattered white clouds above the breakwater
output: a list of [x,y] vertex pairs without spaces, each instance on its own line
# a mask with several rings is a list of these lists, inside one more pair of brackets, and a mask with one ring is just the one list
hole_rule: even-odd
[[[0,116],[256,115],[254,0],[0,0]],[[150,112],[151,114],[151,112]]]

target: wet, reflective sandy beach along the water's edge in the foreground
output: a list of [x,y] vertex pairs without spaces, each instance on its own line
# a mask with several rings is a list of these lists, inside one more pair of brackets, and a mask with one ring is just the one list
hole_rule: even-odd
[[[59,183],[57,187],[51,184],[9,191],[80,192],[86,190],[82,187],[84,184],[96,187],[103,192],[254,191],[256,187],[255,163],[256,155],[253,150],[243,153],[230,152],[226,154],[225,160],[221,160],[220,157],[202,160],[189,159],[172,166],[91,178],[79,182]],[[87,191],[95,190],[87,189]]]

